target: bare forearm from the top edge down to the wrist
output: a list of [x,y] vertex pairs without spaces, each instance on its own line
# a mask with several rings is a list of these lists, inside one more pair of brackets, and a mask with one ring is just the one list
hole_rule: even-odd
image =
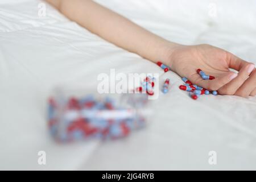
[[139,27],[90,0],[47,0],[69,19],[127,51],[151,60],[167,60],[177,44]]

